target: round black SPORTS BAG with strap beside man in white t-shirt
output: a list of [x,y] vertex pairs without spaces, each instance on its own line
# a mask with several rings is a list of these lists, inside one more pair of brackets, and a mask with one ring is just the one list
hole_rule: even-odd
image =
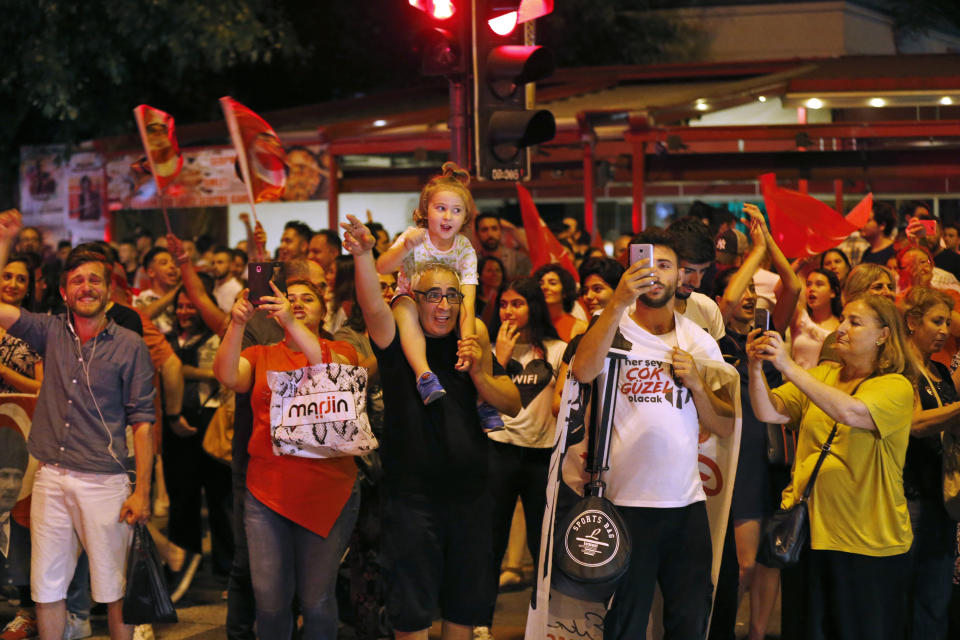
[[554,529],[552,586],[588,602],[609,600],[630,566],[630,533],[616,506],[603,497],[606,485],[601,479],[609,468],[610,422],[622,362],[622,357],[609,357],[605,393],[601,398],[595,381],[591,394],[595,403],[587,443],[590,481],[584,486],[583,498],[557,519]]

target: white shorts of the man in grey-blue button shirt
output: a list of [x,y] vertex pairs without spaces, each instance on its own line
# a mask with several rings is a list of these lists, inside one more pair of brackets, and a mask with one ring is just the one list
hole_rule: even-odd
[[30,595],[34,602],[67,597],[82,548],[90,558],[97,602],[123,598],[133,528],[117,522],[130,495],[125,473],[69,471],[41,465],[30,505]]

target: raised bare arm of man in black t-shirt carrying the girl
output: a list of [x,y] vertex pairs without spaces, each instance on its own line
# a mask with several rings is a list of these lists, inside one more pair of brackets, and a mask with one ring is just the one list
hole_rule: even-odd
[[380,278],[373,263],[376,238],[356,216],[348,215],[347,220],[349,222],[342,222],[340,226],[344,229],[343,247],[353,254],[357,304],[363,312],[370,340],[381,349],[386,349],[396,336],[397,324],[383,299]]

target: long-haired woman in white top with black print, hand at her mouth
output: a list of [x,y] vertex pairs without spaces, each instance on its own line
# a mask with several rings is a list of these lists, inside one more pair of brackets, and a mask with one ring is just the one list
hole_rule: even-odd
[[[508,284],[500,294],[498,307],[500,330],[494,354],[520,390],[523,408],[516,417],[502,416],[503,430],[488,434],[493,440],[488,480],[493,498],[493,576],[500,574],[518,497],[523,504],[527,548],[534,558],[538,557],[547,467],[556,427],[553,389],[566,348],[550,322],[548,306],[536,279],[518,278]],[[522,547],[519,551],[517,555],[522,557]],[[519,582],[519,560],[507,564],[504,573],[512,575],[503,576],[501,582]],[[490,603],[490,622],[495,604]]]

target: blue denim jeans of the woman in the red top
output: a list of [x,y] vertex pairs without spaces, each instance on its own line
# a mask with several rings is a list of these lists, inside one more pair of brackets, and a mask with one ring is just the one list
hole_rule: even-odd
[[261,640],[290,640],[294,594],[303,614],[301,637],[337,637],[337,567],[359,509],[360,491],[355,485],[329,535],[323,537],[284,518],[247,491],[247,545]]

